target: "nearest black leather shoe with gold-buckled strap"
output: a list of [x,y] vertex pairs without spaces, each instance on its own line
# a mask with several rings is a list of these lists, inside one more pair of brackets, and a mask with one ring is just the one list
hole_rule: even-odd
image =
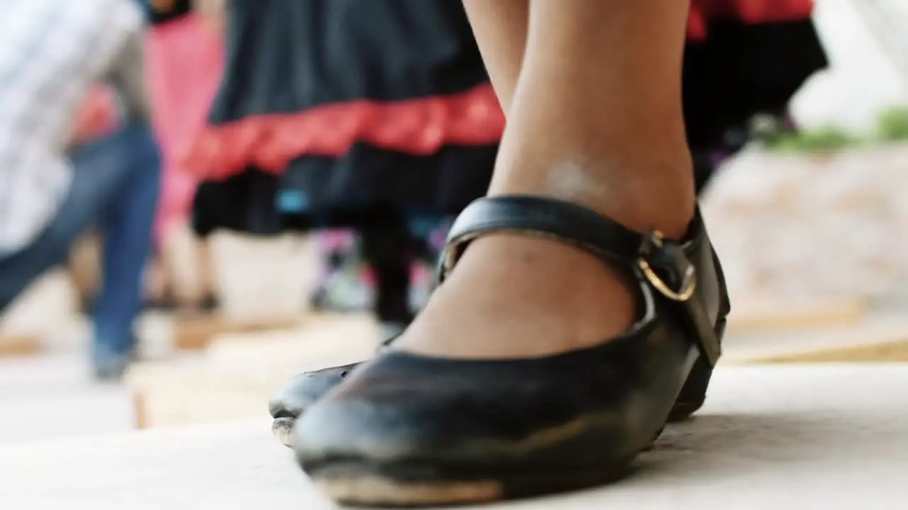
[[470,240],[498,232],[627,268],[638,320],[618,338],[547,358],[380,354],[293,427],[300,465],[333,499],[449,505],[605,483],[651,444],[687,381],[706,387],[728,301],[699,214],[679,243],[567,202],[482,199],[455,222],[439,280]]

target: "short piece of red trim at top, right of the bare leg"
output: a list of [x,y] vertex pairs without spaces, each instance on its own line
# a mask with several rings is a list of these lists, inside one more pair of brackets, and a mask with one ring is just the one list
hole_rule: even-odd
[[708,20],[732,18],[747,25],[809,18],[814,0],[693,0],[687,21],[690,39],[706,38]]

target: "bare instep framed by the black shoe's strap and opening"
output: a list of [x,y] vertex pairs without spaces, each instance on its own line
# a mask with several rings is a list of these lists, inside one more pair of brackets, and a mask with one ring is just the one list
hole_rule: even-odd
[[395,348],[451,358],[535,358],[601,343],[631,324],[617,271],[551,240],[477,240]]

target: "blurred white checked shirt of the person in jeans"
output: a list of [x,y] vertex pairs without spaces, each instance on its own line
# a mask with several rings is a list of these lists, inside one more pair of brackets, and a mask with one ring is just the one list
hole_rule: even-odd
[[75,113],[143,13],[133,0],[0,0],[0,256],[54,218],[73,179]]

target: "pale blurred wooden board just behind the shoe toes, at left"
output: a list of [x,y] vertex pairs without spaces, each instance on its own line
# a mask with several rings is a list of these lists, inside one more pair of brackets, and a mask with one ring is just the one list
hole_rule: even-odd
[[136,425],[267,417],[269,397],[287,379],[369,358],[378,339],[369,316],[323,315],[303,327],[216,337],[197,358],[136,365],[126,378]]

